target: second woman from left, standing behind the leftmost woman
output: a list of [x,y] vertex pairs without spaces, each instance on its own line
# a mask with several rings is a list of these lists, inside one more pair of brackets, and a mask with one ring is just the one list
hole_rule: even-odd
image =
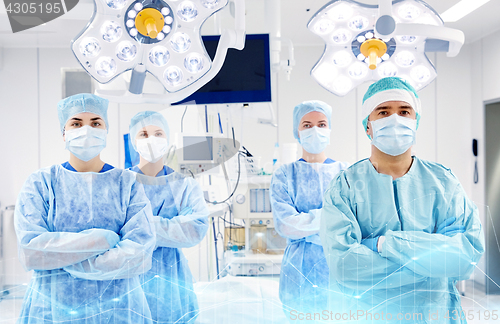
[[193,178],[164,165],[170,134],[160,113],[135,115],[130,122],[130,138],[140,155],[139,165],[131,170],[144,184],[156,228],[153,267],[141,277],[153,322],[193,323],[198,302],[181,249],[197,245],[207,232],[209,211],[203,192]]

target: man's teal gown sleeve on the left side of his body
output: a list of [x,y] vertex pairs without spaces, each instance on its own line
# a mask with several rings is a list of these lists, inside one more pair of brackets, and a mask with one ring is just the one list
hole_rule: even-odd
[[425,281],[426,277],[361,244],[349,191],[345,175],[340,173],[324,196],[320,237],[332,277],[344,287],[362,291]]

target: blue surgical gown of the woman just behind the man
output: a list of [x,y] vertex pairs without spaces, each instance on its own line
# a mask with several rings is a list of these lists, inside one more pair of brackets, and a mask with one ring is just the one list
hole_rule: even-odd
[[280,274],[285,313],[326,309],[328,266],[319,238],[323,194],[347,164],[303,159],[282,165],[271,180],[271,207],[276,231],[287,239]]

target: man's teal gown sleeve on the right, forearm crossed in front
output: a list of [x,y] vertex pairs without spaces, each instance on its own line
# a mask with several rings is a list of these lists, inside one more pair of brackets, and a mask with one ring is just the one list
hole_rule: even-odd
[[465,280],[484,253],[484,234],[477,207],[457,184],[446,211],[440,218],[456,217],[454,224],[465,226],[465,232],[448,237],[426,232],[385,234],[381,255],[426,277],[454,277]]

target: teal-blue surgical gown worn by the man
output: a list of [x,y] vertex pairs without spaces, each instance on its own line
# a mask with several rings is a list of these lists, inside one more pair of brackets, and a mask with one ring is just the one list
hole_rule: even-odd
[[[450,217],[465,232],[435,234]],[[395,323],[466,323],[455,285],[481,258],[483,235],[477,207],[449,169],[413,157],[410,170],[393,180],[362,160],[325,194],[321,240],[331,281],[340,288],[331,306],[341,313],[384,312]],[[386,238],[381,253],[360,244],[378,236]],[[405,315],[401,321],[398,314]]]

